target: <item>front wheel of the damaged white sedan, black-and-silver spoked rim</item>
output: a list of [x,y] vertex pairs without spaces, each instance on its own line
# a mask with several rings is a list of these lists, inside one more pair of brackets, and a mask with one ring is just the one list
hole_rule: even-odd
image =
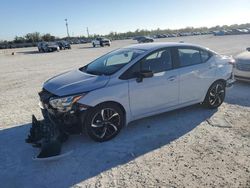
[[97,142],[114,138],[125,124],[121,108],[113,103],[100,104],[90,109],[85,119],[87,135]]

